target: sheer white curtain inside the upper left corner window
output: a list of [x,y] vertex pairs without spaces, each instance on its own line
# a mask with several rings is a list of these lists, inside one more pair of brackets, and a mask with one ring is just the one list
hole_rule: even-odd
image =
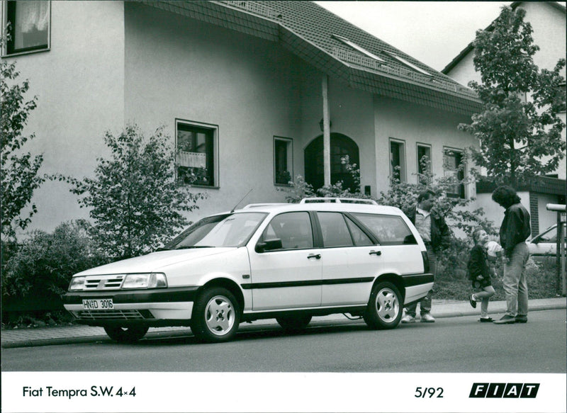
[[47,29],[49,28],[49,1],[18,1],[16,4],[16,24],[14,26],[16,30],[14,36],[16,49],[32,46],[25,44],[23,35],[34,32],[45,32],[47,34]]

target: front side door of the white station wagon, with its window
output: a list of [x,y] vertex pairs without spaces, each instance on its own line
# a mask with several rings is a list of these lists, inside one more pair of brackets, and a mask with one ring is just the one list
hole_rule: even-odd
[[259,242],[281,239],[281,248],[249,251],[252,310],[317,307],[321,304],[321,250],[305,211],[276,215]]

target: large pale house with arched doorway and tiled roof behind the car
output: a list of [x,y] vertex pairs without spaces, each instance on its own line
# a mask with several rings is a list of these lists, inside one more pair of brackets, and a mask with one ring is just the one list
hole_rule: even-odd
[[[26,149],[41,173],[82,179],[108,155],[106,130],[160,125],[179,172],[208,193],[191,220],[244,203],[283,202],[288,179],[348,179],[378,196],[400,167],[417,181],[458,164],[476,141],[457,129],[481,106],[470,89],[311,1],[2,1],[17,61],[38,96]],[[450,162],[449,162],[450,163]],[[466,173],[466,172],[465,172]],[[347,182],[348,184],[348,182]],[[453,196],[475,196],[474,186]],[[30,228],[88,217],[61,182],[35,192]]]

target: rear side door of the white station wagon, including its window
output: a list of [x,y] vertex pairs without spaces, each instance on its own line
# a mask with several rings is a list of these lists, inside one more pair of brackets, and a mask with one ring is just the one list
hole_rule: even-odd
[[366,304],[381,267],[378,246],[342,213],[318,212],[317,216],[324,247],[321,305]]

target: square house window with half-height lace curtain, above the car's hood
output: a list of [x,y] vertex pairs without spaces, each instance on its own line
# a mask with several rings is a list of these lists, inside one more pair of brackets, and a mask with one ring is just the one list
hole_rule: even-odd
[[176,121],[179,183],[218,186],[217,132],[213,126]]

